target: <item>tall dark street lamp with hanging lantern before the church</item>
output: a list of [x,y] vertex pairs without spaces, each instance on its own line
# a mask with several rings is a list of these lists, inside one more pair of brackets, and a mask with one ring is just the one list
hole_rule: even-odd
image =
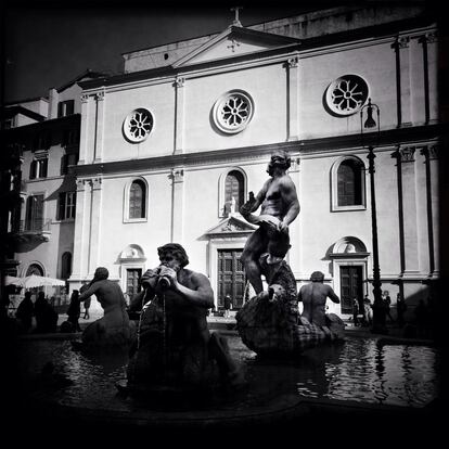
[[[363,114],[367,113],[367,119],[363,123]],[[377,124],[373,117],[373,113],[376,113]],[[381,111],[376,104],[371,103],[371,99],[368,99],[368,104],[362,106],[360,110],[360,136],[362,139],[363,145],[363,128],[375,128],[377,125],[376,141],[379,143],[379,134],[381,131]],[[374,146],[371,144],[368,145],[368,161],[370,174],[370,190],[371,190],[371,230],[373,239],[373,325],[371,332],[376,334],[387,333],[385,325],[386,313],[384,304],[382,300],[382,282],[381,282],[381,268],[379,266],[379,245],[377,245],[377,213],[375,206],[375,187],[374,187]]]

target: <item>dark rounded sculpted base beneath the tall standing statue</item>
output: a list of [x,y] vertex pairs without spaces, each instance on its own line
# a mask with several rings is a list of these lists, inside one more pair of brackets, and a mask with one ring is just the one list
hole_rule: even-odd
[[[274,270],[264,262],[261,267],[268,274],[268,293],[261,292],[253,297],[235,316],[239,334],[249,349],[262,357],[290,358],[323,343],[344,339],[344,322],[336,315],[325,315],[323,310],[322,295],[323,292],[333,293],[330,286],[319,284],[323,288],[313,290],[311,296],[302,287],[300,300],[305,300],[307,295],[308,306],[306,313],[299,316],[296,280],[285,260]],[[312,310],[310,315],[309,309]],[[306,317],[311,317],[310,321]]]

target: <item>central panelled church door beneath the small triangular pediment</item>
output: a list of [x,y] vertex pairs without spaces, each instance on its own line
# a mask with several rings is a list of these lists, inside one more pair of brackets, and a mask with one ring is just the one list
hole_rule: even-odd
[[218,249],[218,298],[219,309],[224,306],[224,296],[231,296],[232,309],[241,309],[245,302],[246,277],[240,261],[242,249]]

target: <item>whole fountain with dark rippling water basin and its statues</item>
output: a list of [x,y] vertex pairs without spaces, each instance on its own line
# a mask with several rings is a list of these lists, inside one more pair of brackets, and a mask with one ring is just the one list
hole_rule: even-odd
[[[272,157],[273,179],[285,161],[282,154]],[[268,198],[270,189],[266,185]],[[313,313],[300,317],[296,281],[283,260],[290,248],[284,224],[298,209],[293,201],[293,209],[282,208],[284,216],[270,216],[279,206],[274,198],[255,217],[261,197],[251,197],[242,210],[260,226],[256,241],[262,236],[267,245],[254,251],[257,245],[249,238],[245,246],[245,269],[257,295],[239,311],[238,333],[209,331],[206,311],[214,300],[208,279],[184,268],[189,260],[180,245],[164,245],[158,248],[161,266],[142,277],[143,291],[128,310],[138,321],[123,318],[121,299],[111,304],[100,292],[104,319],[81,343],[73,344],[74,334],[12,338],[7,359],[12,368],[8,385],[14,392],[7,402],[10,418],[21,416],[39,428],[75,425],[84,439],[86,432],[128,438],[139,432],[154,437],[161,431],[166,439],[189,433],[217,438],[226,432],[252,442],[302,437],[316,424],[321,428],[323,420],[335,432],[350,420],[351,436],[355,426],[365,428],[367,420],[428,425],[436,416],[438,349],[345,336],[338,317],[321,309],[322,322],[315,322]],[[281,224],[286,217],[290,221]],[[108,281],[92,282],[86,295],[100,285],[106,287]],[[317,291],[311,290],[309,299]],[[114,319],[108,320],[111,310]],[[116,332],[114,342],[121,344],[105,345],[103,326]],[[11,339],[14,332],[7,335]],[[325,344],[336,342],[344,344]],[[91,350],[95,346],[99,350]]]

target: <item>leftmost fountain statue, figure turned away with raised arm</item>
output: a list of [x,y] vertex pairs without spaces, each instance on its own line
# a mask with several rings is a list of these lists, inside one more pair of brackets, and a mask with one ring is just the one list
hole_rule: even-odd
[[129,322],[121,288],[116,282],[110,281],[108,275],[106,268],[99,267],[92,281],[80,288],[79,302],[95,295],[104,310],[103,317],[90,323],[82,332],[81,348],[124,347],[134,338],[136,333]]

